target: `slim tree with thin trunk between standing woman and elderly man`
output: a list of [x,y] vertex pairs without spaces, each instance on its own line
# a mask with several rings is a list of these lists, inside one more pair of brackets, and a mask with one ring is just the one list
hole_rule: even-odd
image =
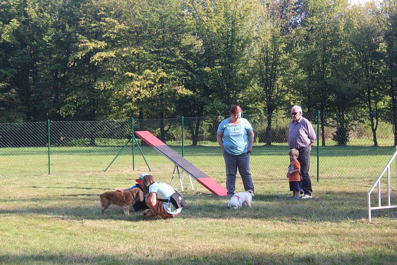
[[273,113],[288,93],[289,87],[282,79],[293,64],[294,7],[293,0],[264,1],[259,7],[253,60],[258,94],[266,108],[266,145],[271,144]]

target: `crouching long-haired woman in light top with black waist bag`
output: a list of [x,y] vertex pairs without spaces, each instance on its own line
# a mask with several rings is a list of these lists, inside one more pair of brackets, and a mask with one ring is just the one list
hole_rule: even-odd
[[163,182],[156,182],[152,175],[142,178],[142,189],[147,207],[143,216],[161,217],[164,219],[178,216],[182,208],[177,209],[170,202],[170,197],[175,193],[174,188]]

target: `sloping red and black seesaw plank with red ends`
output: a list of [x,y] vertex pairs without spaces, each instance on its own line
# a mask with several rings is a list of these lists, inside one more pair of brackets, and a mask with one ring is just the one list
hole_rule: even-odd
[[148,131],[138,131],[135,132],[135,134],[151,147],[156,149],[159,153],[167,157],[171,162],[175,163],[176,166],[182,168],[190,176],[195,178],[195,180],[197,180],[197,182],[204,186],[208,191],[218,196],[226,196],[227,190],[225,188],[205,175],[204,172],[199,170],[196,166],[183,158],[180,154],[175,152],[171,147],[166,145],[152,133]]

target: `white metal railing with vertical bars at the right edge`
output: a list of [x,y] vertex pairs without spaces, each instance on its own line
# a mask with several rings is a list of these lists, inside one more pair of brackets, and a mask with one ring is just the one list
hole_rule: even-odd
[[[377,210],[377,209],[391,209],[391,208],[397,208],[397,205],[391,205],[391,189],[390,189],[390,165],[392,164],[393,160],[397,156],[397,146],[396,146],[396,151],[390,158],[389,162],[386,164],[385,168],[382,170],[382,173],[379,175],[378,179],[375,181],[375,183],[372,185],[371,189],[368,191],[368,220],[371,222],[371,210]],[[381,179],[385,175],[385,173],[388,173],[388,206],[382,206],[381,204]],[[378,186],[378,206],[376,207],[371,207],[371,194],[374,191],[375,187]],[[396,159],[396,186],[397,186],[397,159]],[[397,188],[397,187],[396,187]]]

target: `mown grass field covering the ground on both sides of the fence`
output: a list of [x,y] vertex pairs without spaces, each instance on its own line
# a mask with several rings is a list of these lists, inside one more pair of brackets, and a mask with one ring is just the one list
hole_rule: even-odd
[[[168,182],[173,164],[142,149],[152,174]],[[135,149],[135,171],[127,150],[103,172],[118,150],[53,148],[48,175],[46,148],[1,149],[0,264],[397,263],[397,212],[374,211],[373,222],[366,219],[366,193],[394,147],[321,148],[320,182],[314,148],[314,198],[294,201],[285,178],[287,146],[255,146],[251,208],[230,210],[227,199],[197,182],[192,191],[185,181],[188,205],[172,220],[125,216],[116,206],[99,214],[101,193],[129,187],[147,171]],[[186,147],[185,156],[225,186],[218,147]],[[391,171],[396,204],[395,164]],[[242,191],[239,177],[236,184]]]

